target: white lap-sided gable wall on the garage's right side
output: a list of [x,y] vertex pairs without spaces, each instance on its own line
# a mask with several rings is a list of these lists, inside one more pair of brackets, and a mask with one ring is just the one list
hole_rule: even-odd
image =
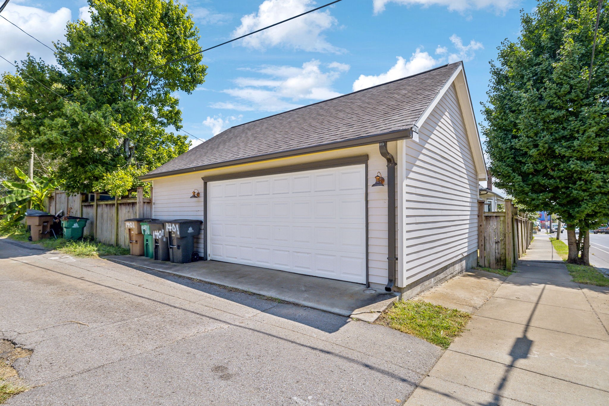
[[477,172],[457,97],[451,85],[419,141],[404,142],[400,287],[407,289],[465,270],[477,250]]

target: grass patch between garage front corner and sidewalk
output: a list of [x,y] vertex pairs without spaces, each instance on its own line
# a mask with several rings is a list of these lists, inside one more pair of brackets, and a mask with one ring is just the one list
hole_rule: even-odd
[[454,338],[459,337],[470,313],[447,309],[424,301],[398,301],[385,310],[375,323],[422,338],[432,344],[448,348]]

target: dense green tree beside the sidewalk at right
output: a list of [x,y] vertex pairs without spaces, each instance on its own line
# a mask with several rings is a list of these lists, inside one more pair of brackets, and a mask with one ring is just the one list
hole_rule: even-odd
[[546,0],[523,13],[518,41],[505,40],[491,63],[483,125],[495,184],[558,214],[569,261],[584,264],[588,229],[609,212],[609,9],[595,41],[597,4]]

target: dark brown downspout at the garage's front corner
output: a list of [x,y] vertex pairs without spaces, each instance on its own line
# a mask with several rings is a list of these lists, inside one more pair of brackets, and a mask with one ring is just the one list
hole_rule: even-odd
[[395,285],[395,158],[387,150],[387,141],[379,142],[379,150],[383,158],[387,159],[387,278],[385,286],[387,292],[392,291]]

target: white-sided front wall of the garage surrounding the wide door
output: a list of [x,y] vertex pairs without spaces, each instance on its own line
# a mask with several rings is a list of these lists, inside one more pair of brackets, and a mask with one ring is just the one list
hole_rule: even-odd
[[[397,156],[397,143],[390,142],[389,150]],[[248,170],[290,166],[347,156],[368,155],[368,278],[371,284],[387,284],[387,187],[371,187],[375,175],[381,172],[387,177],[387,161],[379,153],[378,144],[354,147],[292,158],[275,159],[239,167],[226,167],[202,172],[188,173],[153,181],[153,217],[161,220],[199,219],[203,220],[202,177],[225,175]],[[200,198],[190,198],[193,189],[199,189]],[[203,231],[195,238],[195,249],[203,255]],[[382,287],[382,286],[381,286]]]

